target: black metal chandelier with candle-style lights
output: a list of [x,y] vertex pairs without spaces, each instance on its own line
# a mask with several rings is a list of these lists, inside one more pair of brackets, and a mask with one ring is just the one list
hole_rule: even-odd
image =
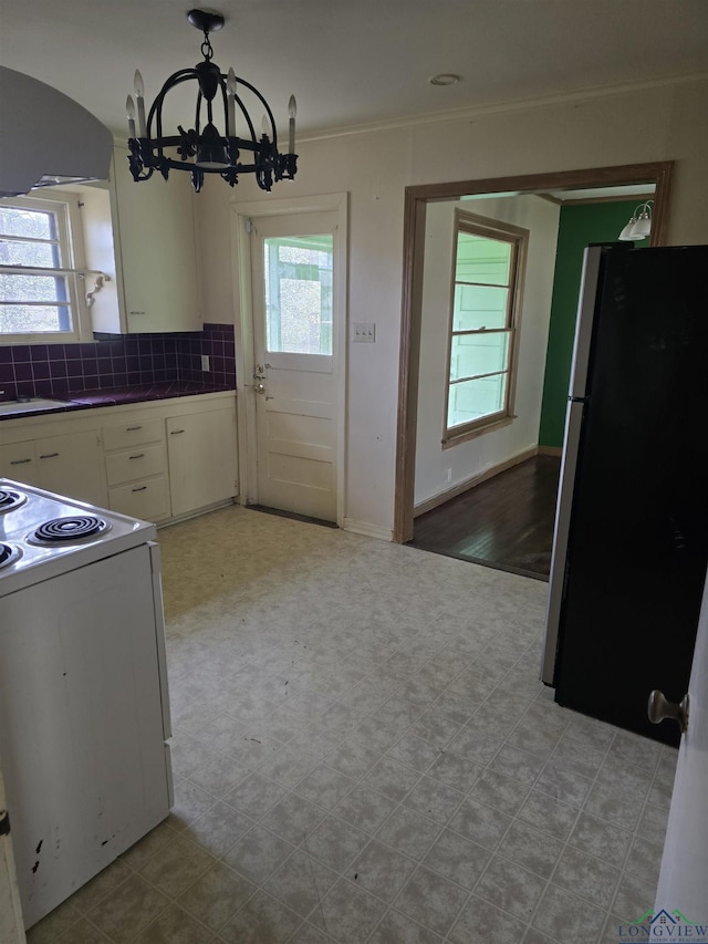
[[[223,74],[211,61],[214,50],[209,33],[220,30],[223,25],[221,13],[214,10],[190,10],[187,19],[192,27],[204,32],[204,62],[197,63],[194,69],[180,69],[169,76],[153,102],[147,120],[143,77],[139,72],[135,73],[135,101],[128,95],[126,102],[131,135],[128,164],[133,179],[148,180],[154,170],[159,170],[165,179],[170,169],[188,170],[197,193],[204,186],[205,174],[219,174],[231,187],[238,184],[239,174],[254,174],[261,190],[270,190],[273,181],[294,179],[298,170],[298,155],[294,153],[294,96],[290,96],[288,104],[288,153],[281,154],[278,151],[275,122],[266,98],[250,82],[239,79],[232,69],[229,69],[228,74]],[[196,80],[199,86],[195,126],[185,131],[178,125],[179,134],[164,135],[165,96],[183,82],[190,80]],[[252,108],[263,110],[260,135],[256,132],[253,120],[243,101],[244,93],[252,102]],[[223,107],[225,134],[221,134],[214,123],[215,100],[217,103],[220,100]],[[206,112],[206,122],[202,112]],[[176,149],[179,159],[168,156],[167,149]]]

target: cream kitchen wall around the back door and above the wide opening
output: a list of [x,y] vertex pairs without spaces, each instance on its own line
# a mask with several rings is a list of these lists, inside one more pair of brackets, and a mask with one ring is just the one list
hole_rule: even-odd
[[[298,179],[273,197],[350,193],[348,320],[376,322],[375,344],[348,345],[353,526],[383,536],[394,520],[405,187],[673,159],[669,241],[708,243],[706,101],[702,79],[299,144]],[[230,200],[268,197],[252,180],[233,190],[208,180],[196,197],[205,321],[235,312]]]

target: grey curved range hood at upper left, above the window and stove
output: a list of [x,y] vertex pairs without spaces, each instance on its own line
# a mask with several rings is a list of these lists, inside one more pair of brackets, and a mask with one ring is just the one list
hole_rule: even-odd
[[4,66],[0,90],[0,197],[107,180],[113,138],[83,105]]

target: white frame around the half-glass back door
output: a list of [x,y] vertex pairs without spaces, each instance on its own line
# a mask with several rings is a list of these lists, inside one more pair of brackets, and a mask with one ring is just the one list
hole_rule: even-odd
[[[336,523],[344,526],[344,496],[346,476],[346,339],[348,336],[347,278],[347,208],[348,194],[320,194],[312,197],[263,199],[249,203],[231,200],[231,246],[236,264],[232,268],[236,335],[236,408],[238,417],[239,481],[241,505],[258,501],[256,440],[256,397],[252,395],[253,362],[253,303],[251,299],[251,242],[249,220],[259,217],[285,216],[288,214],[334,212],[337,217],[340,238],[334,240],[334,310],[339,313],[333,332],[334,372],[336,376]],[[337,276],[339,273],[339,276]]]

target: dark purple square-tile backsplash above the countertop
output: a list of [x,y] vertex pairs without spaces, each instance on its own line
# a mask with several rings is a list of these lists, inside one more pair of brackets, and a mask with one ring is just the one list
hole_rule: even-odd
[[[209,371],[201,370],[202,355]],[[164,381],[236,387],[232,324],[201,332],[104,335],[86,344],[0,345],[0,400],[51,396]]]

